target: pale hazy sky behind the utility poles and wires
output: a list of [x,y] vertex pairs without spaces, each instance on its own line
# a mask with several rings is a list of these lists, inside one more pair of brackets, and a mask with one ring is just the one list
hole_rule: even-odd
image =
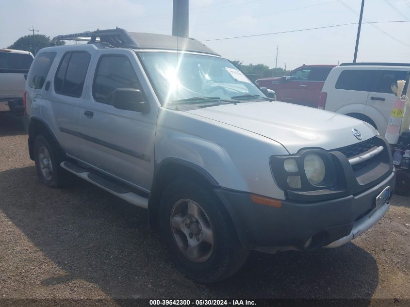
[[[230,60],[294,69],[352,62],[361,0],[190,0],[189,36]],[[363,22],[410,20],[410,0],[365,0]],[[0,48],[116,26],[172,34],[172,0],[0,0]],[[288,32],[259,35],[274,32]],[[357,62],[410,62],[410,22],[363,24]],[[244,38],[214,40],[246,35]]]

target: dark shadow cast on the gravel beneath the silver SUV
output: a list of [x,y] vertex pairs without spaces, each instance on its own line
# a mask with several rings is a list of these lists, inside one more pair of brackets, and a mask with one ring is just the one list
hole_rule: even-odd
[[85,181],[52,189],[37,181],[33,166],[12,169],[0,173],[0,195],[0,210],[68,272],[43,277],[44,286],[82,279],[114,298],[236,299],[370,298],[378,284],[375,259],[348,243],[310,253],[253,252],[234,276],[201,285],[170,262],[146,210]]

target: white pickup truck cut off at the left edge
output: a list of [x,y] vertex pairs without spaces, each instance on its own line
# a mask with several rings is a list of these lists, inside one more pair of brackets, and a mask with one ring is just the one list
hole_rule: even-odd
[[29,51],[0,49],[0,112],[23,115],[23,93],[33,62]]

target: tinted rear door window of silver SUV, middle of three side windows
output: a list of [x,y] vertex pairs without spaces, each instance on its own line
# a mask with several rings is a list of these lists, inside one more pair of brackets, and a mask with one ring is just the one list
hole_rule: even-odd
[[66,52],[54,78],[54,91],[81,97],[91,56],[88,52]]

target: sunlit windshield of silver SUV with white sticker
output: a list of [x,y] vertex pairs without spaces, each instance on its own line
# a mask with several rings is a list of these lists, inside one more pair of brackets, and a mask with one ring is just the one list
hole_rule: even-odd
[[139,55],[163,106],[192,97],[264,97],[259,88],[226,59],[180,52],[140,52]]

